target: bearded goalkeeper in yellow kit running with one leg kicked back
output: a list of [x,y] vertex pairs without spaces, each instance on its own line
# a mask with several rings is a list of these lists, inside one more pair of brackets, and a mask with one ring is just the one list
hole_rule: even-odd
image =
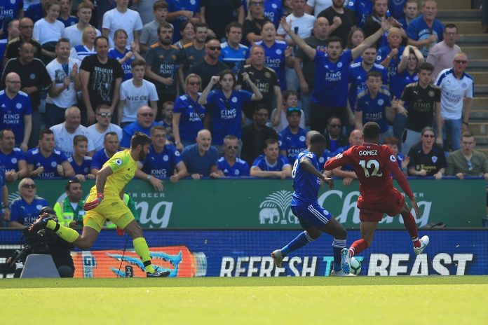
[[42,228],[48,228],[76,247],[90,249],[102,230],[105,219],[109,219],[133,237],[134,249],[144,263],[147,277],[168,277],[170,272],[154,270],[142,229],[121,199],[123,188],[133,179],[137,170],[137,161],[144,161],[150,144],[150,137],[135,132],[130,139],[130,149],[119,151],[104,163],[97,174],[95,186],[90,190],[87,203],[83,206],[87,212],[81,235],[74,229],[60,225],[48,214],[41,214],[29,227],[29,232],[37,233]]

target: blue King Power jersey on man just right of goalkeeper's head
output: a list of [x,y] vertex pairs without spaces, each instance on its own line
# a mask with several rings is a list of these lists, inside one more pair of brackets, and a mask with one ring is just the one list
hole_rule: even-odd
[[175,146],[166,144],[161,153],[154,150],[154,146],[149,146],[149,153],[142,165],[142,171],[152,175],[157,179],[164,179],[172,176],[176,165],[182,161],[182,155]]

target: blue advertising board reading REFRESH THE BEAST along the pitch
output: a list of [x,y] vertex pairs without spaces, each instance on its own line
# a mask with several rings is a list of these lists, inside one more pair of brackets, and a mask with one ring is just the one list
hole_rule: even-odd
[[[20,230],[0,230],[0,277],[12,277],[5,259],[18,248]],[[283,260],[276,268],[271,251],[283,247],[297,230],[146,230],[154,265],[170,277],[328,276],[332,237],[323,235]],[[488,229],[426,230],[431,242],[416,256],[406,230],[377,230],[372,246],[358,255],[360,275],[487,275]],[[360,236],[348,232],[347,244]],[[144,277],[131,240],[114,230],[100,233],[90,251],[74,251],[75,277]]]

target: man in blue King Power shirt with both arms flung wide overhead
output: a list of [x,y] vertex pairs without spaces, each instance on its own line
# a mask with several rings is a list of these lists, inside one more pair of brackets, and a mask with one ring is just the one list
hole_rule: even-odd
[[281,21],[281,25],[294,43],[315,63],[315,86],[310,108],[311,130],[323,132],[330,116],[339,117],[343,125],[352,123],[354,120],[353,112],[346,108],[349,64],[356,57],[359,57],[366,48],[372,46],[392,25],[398,25],[398,22],[393,18],[382,20],[381,28],[352,50],[343,51],[341,39],[330,37],[327,40],[325,53],[305,43],[291,30],[290,25],[285,20]]

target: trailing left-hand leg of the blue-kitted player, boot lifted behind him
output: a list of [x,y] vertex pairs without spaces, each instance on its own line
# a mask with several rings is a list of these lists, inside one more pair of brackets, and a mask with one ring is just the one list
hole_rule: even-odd
[[285,256],[290,254],[292,251],[296,251],[297,249],[304,247],[306,244],[316,240],[321,235],[320,230],[309,222],[309,215],[306,214],[306,211],[306,207],[292,207],[293,214],[297,216],[300,221],[301,228],[304,228],[305,231],[300,233],[282,249],[276,249],[271,253],[271,257],[278,268],[281,268],[281,262]]

